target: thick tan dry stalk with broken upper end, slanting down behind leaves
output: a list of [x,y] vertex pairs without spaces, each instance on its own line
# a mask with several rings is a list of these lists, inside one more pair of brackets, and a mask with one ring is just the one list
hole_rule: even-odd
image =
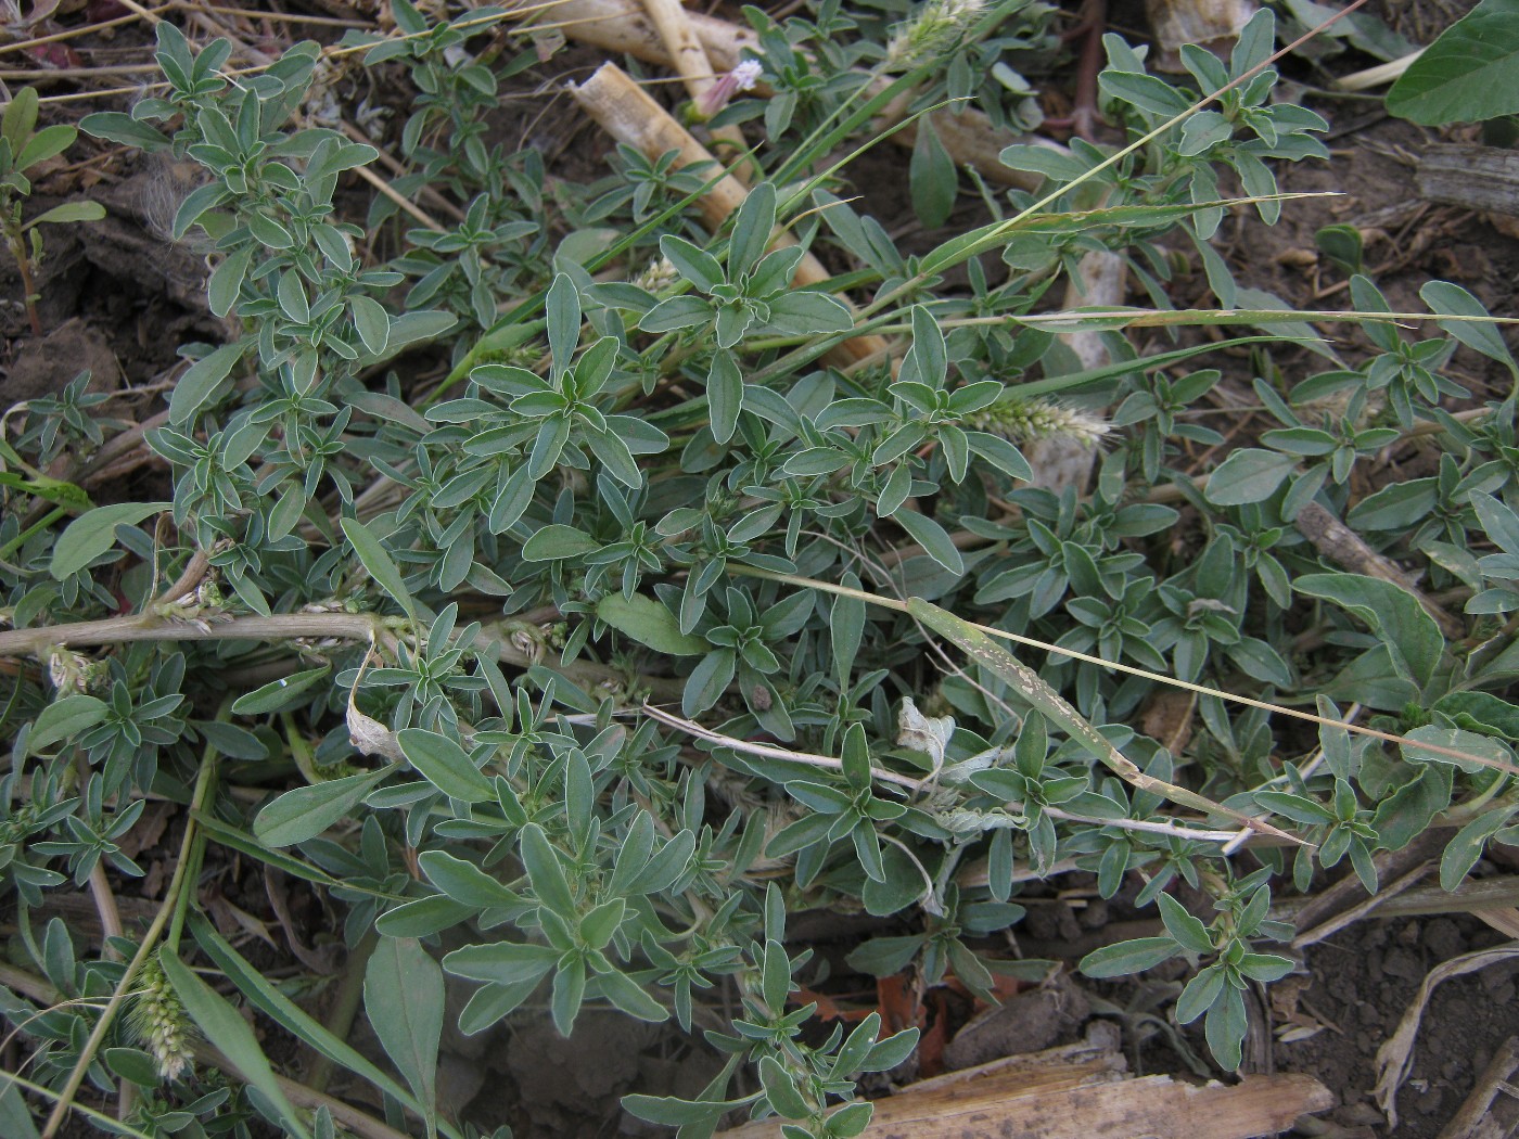
[[[670,112],[649,97],[649,94],[623,71],[617,64],[603,64],[595,74],[579,87],[570,88],[576,102],[618,143],[633,147],[649,158],[658,158],[667,150],[681,153],[681,166],[696,162],[712,162],[711,152],[703,147],[690,131],[681,126]],[[702,219],[709,229],[717,229],[728,217],[743,205],[749,191],[732,175],[718,179],[700,199]],[[790,234],[778,234],[775,243],[779,246],[794,245]],[[832,276],[823,264],[808,254],[796,269],[794,282],[799,289],[816,286]],[[858,360],[875,357],[887,351],[886,340],[878,336],[857,336],[845,340],[829,354],[829,360],[840,364],[851,364]]]

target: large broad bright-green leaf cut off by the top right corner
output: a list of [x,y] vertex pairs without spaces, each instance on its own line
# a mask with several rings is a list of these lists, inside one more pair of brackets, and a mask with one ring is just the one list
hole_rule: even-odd
[[1387,112],[1422,126],[1519,111],[1519,0],[1483,0],[1414,59],[1387,93]]

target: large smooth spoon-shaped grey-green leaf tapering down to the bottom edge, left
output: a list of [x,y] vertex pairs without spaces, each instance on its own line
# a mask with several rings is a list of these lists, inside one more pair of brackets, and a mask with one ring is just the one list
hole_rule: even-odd
[[365,1013],[437,1134],[437,1043],[444,1036],[444,970],[410,937],[381,937],[365,969]]

